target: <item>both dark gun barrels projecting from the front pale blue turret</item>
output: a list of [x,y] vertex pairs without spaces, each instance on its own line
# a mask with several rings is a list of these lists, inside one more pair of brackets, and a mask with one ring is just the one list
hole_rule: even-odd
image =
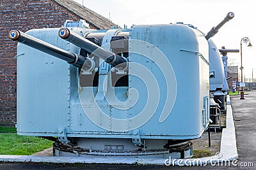
[[[86,50],[86,52],[93,53],[94,56],[105,60],[105,62],[108,62],[111,66],[116,67],[116,69],[122,70],[127,68],[127,59],[113,52],[104,50],[102,47],[92,43],[90,40],[76,34],[76,32],[70,31],[70,29],[61,28],[59,31],[59,36],[70,43],[81,47],[83,50]],[[83,69],[83,71],[92,71],[94,69],[95,63],[90,57],[84,57],[82,55],[77,55],[76,53],[67,52],[61,48],[58,48],[57,46],[51,45],[50,43],[30,36],[19,30],[10,31],[9,38],[42,52],[48,53],[49,55],[59,59],[65,60],[69,64]]]

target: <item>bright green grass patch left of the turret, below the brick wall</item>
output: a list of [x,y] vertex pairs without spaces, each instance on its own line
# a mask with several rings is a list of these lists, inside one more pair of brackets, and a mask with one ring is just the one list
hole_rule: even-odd
[[52,146],[52,141],[35,136],[19,136],[13,133],[16,132],[14,129],[0,127],[0,155],[31,155]]

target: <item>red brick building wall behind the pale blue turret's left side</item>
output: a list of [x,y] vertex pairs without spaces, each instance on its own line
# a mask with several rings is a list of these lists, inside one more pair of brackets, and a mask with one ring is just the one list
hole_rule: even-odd
[[0,126],[16,122],[17,43],[8,39],[12,29],[28,31],[43,27],[61,27],[65,20],[79,20],[51,0],[0,1]]

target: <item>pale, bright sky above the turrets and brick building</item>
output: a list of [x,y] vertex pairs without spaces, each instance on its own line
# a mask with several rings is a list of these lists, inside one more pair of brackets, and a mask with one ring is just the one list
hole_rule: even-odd
[[[82,4],[83,0],[76,0]],[[178,1],[120,1],[120,0],[84,0],[84,6],[100,15],[109,18],[124,27],[132,24],[169,24],[184,22],[192,24],[200,31],[207,33],[216,26],[229,11],[235,17],[224,25],[212,40],[218,48],[240,49],[240,41],[246,36],[253,45],[243,45],[243,67],[246,78],[252,77],[252,69],[256,71],[256,34],[255,4],[253,0],[178,0]],[[230,53],[230,62],[241,66],[240,53]],[[256,73],[255,73],[256,74]]]

